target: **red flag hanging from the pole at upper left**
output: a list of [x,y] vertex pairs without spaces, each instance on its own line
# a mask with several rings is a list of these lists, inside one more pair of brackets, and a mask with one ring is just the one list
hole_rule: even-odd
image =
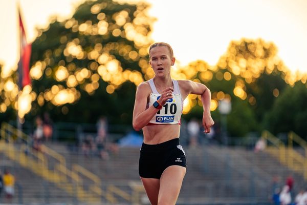
[[23,20],[19,14],[19,31],[20,31],[20,58],[18,62],[18,74],[19,74],[19,88],[23,89],[26,85],[31,84],[29,76],[30,71],[30,56],[31,56],[31,44],[27,43],[25,28]]

